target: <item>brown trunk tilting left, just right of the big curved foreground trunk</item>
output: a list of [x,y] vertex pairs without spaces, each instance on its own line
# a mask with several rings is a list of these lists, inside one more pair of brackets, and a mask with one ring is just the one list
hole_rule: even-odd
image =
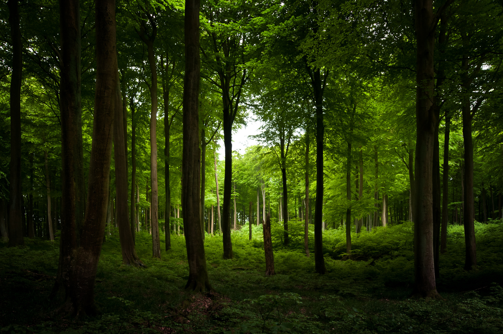
[[122,263],[134,267],[143,267],[143,263],[136,255],[133,234],[128,214],[128,184],[127,184],[127,155],[124,147],[124,113],[121,107],[121,86],[119,72],[117,72],[116,102],[114,116],[114,162],[115,162],[115,194],[117,226],[121,243]]

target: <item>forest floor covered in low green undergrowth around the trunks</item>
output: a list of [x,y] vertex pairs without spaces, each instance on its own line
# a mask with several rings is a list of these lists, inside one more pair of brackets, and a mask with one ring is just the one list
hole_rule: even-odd
[[[298,225],[298,226],[297,226]],[[503,332],[503,222],[476,224],[479,267],[463,270],[463,227],[450,225],[448,252],[440,257],[437,288],[443,299],[412,296],[412,225],[353,234],[353,259],[342,261],[343,229],[324,231],[327,273],[314,274],[303,253],[302,226],[291,226],[282,245],[273,228],[276,275],[266,277],[261,227],[232,233],[234,259],[222,259],[222,238],[206,236],[215,292],[184,290],[188,278],[183,236],[161,260],[151,258],[151,236],[136,238],[146,269],[121,264],[117,234],[107,237],[96,279],[100,315],[72,319],[50,300],[58,242],[26,238],[26,246],[0,242],[1,333],[501,333]],[[312,232],[312,231],[311,231]],[[163,235],[162,235],[163,237]],[[312,240],[310,244],[312,245]],[[161,249],[164,249],[164,243]]]

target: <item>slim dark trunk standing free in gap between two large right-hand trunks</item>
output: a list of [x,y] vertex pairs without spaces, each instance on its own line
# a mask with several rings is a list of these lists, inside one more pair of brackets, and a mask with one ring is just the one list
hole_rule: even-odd
[[447,222],[449,220],[449,139],[451,133],[451,116],[445,112],[444,163],[442,176],[442,227],[440,231],[440,253],[447,252]]

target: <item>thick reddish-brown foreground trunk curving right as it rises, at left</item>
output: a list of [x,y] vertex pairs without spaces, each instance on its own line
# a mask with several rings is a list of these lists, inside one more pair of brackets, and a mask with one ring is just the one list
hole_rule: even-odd
[[100,258],[109,188],[117,86],[115,1],[96,3],[96,95],[87,208],[70,279],[73,313],[96,314],[94,284]]

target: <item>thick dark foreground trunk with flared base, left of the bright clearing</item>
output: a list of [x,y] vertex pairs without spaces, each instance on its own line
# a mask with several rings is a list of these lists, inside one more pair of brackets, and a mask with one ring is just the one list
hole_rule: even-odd
[[[185,77],[183,96],[182,211],[189,262],[186,289],[213,290],[206,269],[200,202],[199,151],[199,0],[185,1]],[[226,193],[227,194],[227,193]],[[227,197],[227,196],[226,196]]]

